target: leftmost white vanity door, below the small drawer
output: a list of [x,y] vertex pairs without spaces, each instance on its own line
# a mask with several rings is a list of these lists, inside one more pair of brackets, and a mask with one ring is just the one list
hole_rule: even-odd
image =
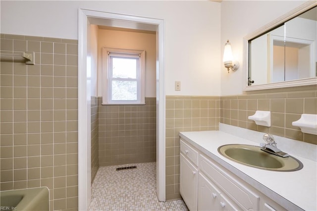
[[197,210],[197,168],[180,154],[179,191],[187,207],[191,211]]

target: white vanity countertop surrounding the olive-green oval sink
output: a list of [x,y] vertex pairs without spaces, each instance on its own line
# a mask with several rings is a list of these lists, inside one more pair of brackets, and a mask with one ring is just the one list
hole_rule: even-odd
[[217,151],[219,146],[225,144],[259,146],[256,142],[222,131],[181,132],[180,137],[286,209],[298,210],[299,207],[306,211],[317,211],[316,161],[289,153],[303,163],[304,167],[301,170],[263,170],[232,161]]

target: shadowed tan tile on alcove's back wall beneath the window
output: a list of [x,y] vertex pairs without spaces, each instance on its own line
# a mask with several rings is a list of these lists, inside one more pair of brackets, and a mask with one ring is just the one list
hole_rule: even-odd
[[103,106],[99,98],[99,165],[156,161],[156,98],[142,106]]

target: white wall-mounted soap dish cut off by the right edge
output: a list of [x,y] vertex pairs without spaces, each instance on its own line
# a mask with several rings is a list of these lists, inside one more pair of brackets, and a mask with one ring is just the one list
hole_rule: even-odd
[[303,133],[317,135],[317,114],[302,114],[301,118],[292,122],[293,126],[300,127]]

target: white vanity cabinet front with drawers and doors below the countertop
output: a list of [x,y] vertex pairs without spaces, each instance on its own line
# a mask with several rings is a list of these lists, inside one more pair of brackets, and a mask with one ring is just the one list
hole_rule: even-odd
[[190,211],[285,210],[182,139],[180,194]]

